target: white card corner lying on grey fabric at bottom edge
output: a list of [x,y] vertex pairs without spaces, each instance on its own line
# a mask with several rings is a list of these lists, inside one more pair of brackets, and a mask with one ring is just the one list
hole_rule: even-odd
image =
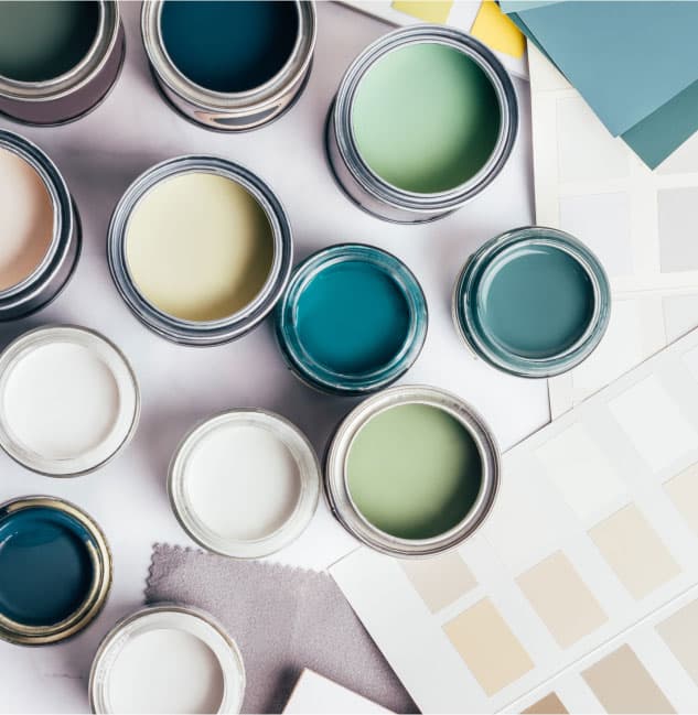
[[372,715],[390,711],[308,668],[283,708],[286,715]]

